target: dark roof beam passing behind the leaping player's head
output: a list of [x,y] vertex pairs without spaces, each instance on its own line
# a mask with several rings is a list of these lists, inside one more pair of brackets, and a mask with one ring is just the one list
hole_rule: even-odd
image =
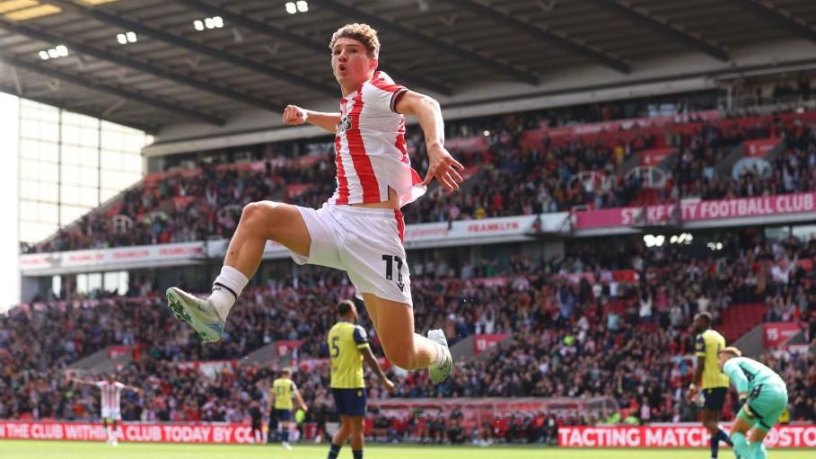
[[[291,31],[287,31],[283,28],[277,27],[275,24],[269,22],[261,22],[256,19],[252,19],[249,16],[245,16],[241,13],[235,13],[222,6],[216,6],[215,4],[206,3],[203,0],[174,0],[174,1],[178,4],[181,4],[191,10],[196,10],[197,12],[200,13],[221,16],[224,18],[226,22],[240,25],[241,27],[247,30],[255,31],[268,37],[276,38],[278,40],[284,40],[286,42],[292,43],[304,49],[310,49],[311,51],[318,53],[320,56],[327,57],[330,56],[328,41],[325,43],[319,43],[317,41],[303,37],[302,35],[298,35]],[[395,69],[399,71],[399,78],[407,81],[409,84],[416,84],[417,86],[433,91],[434,93],[439,93],[447,96],[450,96],[453,93],[452,89],[449,86],[437,83],[422,76],[410,75],[404,71],[400,71],[399,67],[395,67]]]

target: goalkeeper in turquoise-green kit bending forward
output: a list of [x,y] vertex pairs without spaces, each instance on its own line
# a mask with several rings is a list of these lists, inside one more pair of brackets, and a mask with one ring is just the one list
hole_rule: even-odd
[[[756,360],[742,357],[737,348],[720,349],[720,367],[740,394],[742,408],[731,426],[734,455],[741,459],[766,459],[762,440],[787,408],[785,381]],[[750,443],[745,438],[750,428]]]

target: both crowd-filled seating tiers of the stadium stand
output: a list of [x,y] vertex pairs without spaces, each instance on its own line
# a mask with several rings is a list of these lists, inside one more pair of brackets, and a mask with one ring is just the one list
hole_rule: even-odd
[[[565,118],[531,113],[452,123],[449,134],[457,136],[449,139],[450,147],[478,180],[455,196],[430,190],[428,199],[408,207],[408,223],[816,190],[811,140],[816,112],[746,112],[718,119],[699,111],[627,124],[610,107],[616,105]],[[595,124],[575,125],[576,116]],[[609,124],[615,119],[618,124]],[[415,163],[424,161],[423,145],[409,136]],[[242,205],[250,201],[319,207],[334,189],[332,154],[320,144],[306,150],[309,154],[148,174],[107,206],[30,249],[229,238]],[[478,185],[487,181],[489,189]],[[389,368],[399,382],[397,396],[608,397],[619,409],[602,417],[501,411],[486,421],[458,409],[394,415],[374,408],[367,435],[425,443],[553,443],[558,425],[697,419],[698,406],[683,391],[694,365],[688,357],[694,313],[712,313],[729,342],[763,321],[797,322],[806,341],[816,336],[810,261],[816,240],[766,242],[733,234],[723,242],[721,250],[702,254],[681,245],[646,248],[630,238],[617,253],[582,244],[569,247],[560,260],[540,263],[526,255],[505,265],[484,259],[455,266],[444,259],[414,262],[418,330],[443,324],[452,343],[482,334],[510,339],[461,361],[452,379],[437,386],[424,373]],[[202,346],[172,320],[153,285],[135,280],[127,296],[95,291],[39,298],[0,317],[5,349],[0,361],[6,368],[0,418],[94,419],[97,398],[66,384],[64,376],[81,372],[75,365],[93,351],[123,347],[128,358],[118,363],[118,377],[147,389],[142,400],[126,396],[126,420],[241,422],[250,403],[266,396],[273,368],[284,364],[304,370],[298,384],[311,406],[307,419],[321,428],[333,419],[327,349],[322,340],[308,338],[324,336],[334,322],[327,305],[353,296],[344,276],[300,269],[297,278],[248,289],[217,347]],[[59,340],[47,339],[58,330]],[[298,344],[271,366],[240,364],[278,341]],[[809,360],[785,352],[763,360],[791,384],[791,419],[816,420],[816,374]],[[202,367],[208,368],[203,379]],[[371,383],[369,397],[382,400],[385,393]],[[737,409],[732,403],[726,419]]]

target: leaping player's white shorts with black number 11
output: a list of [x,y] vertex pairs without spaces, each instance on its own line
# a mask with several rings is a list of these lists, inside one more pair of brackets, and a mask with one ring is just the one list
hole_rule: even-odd
[[289,251],[296,263],[346,271],[360,299],[367,293],[413,306],[402,212],[329,204],[295,208],[311,236],[308,257]]

